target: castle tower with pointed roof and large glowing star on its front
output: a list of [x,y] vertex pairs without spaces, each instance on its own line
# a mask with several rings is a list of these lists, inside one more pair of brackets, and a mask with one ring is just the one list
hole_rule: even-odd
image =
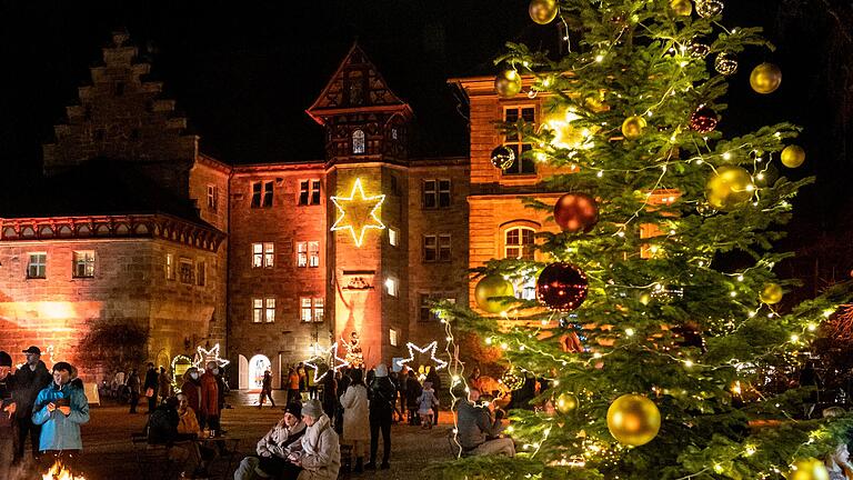
[[387,357],[407,318],[408,164],[412,109],[353,43],[307,110],[325,128],[328,253],[333,333],[361,338],[368,362]]

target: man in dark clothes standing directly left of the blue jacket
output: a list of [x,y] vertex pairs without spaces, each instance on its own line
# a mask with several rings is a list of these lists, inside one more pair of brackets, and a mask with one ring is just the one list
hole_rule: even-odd
[[36,403],[36,397],[39,392],[50,384],[51,377],[48,367],[41,361],[41,350],[32,346],[23,350],[27,357],[27,363],[14,372],[14,389],[12,390],[12,400],[16,403],[16,422],[18,428],[18,443],[14,449],[14,463],[23,460],[23,451],[27,444],[27,436],[30,436],[32,454],[38,460],[41,457],[39,452],[39,438],[41,436],[41,424],[32,422],[32,406]]

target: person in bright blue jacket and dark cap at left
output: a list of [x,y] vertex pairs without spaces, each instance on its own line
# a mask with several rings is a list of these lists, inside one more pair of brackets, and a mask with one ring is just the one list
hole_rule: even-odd
[[83,449],[80,426],[89,421],[89,401],[76,373],[70,363],[57,362],[53,382],[39,392],[32,408],[32,422],[41,426],[39,450],[61,456],[66,464],[73,463]]

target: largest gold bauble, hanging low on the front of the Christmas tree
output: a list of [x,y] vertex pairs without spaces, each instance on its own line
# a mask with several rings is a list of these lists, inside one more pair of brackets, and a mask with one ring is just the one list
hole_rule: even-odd
[[661,429],[661,411],[648,398],[623,394],[608,409],[608,430],[622,444],[649,443]]

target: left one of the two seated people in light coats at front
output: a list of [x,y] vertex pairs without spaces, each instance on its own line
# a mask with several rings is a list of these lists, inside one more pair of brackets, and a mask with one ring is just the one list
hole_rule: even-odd
[[240,462],[234,480],[278,478],[285,469],[295,469],[288,457],[302,449],[304,433],[302,406],[290,403],[284,409],[284,417],[258,442],[258,456]]

